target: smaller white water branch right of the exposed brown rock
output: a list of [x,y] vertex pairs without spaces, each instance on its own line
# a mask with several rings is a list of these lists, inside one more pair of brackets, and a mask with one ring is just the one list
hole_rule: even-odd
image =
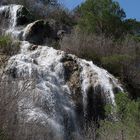
[[105,69],[97,67],[92,62],[80,60],[79,63],[82,67],[81,79],[83,81],[82,93],[85,116],[87,110],[87,93],[88,89],[91,87],[93,87],[94,93],[96,94],[96,87],[100,86],[106,102],[115,106],[116,103],[113,88],[117,87],[120,91],[123,91],[122,87],[119,85],[119,81]]

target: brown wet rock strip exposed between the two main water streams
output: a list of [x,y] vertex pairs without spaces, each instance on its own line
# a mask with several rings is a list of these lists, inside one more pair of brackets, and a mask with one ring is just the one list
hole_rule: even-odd
[[62,61],[65,69],[65,80],[72,92],[72,100],[76,105],[77,113],[81,114],[83,113],[83,101],[81,93],[80,67],[70,56],[66,56]]

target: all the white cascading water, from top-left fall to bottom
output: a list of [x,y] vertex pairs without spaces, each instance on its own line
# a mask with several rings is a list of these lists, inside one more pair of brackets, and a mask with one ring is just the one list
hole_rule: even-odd
[[[14,36],[17,11],[20,7],[20,5],[11,5],[0,8],[0,13],[9,11],[10,30],[8,31]],[[27,28],[19,32],[23,30]],[[117,79],[92,62],[47,46],[36,46],[27,41],[21,41],[20,53],[9,59],[6,71],[14,72],[12,78],[34,79],[34,89],[30,91],[29,96],[23,95],[18,102],[19,121],[34,122],[46,128],[49,127],[55,136],[54,139],[71,140],[73,135],[81,139],[80,120],[73,100],[73,94],[77,93],[73,93],[65,78],[66,69],[62,60],[66,57],[70,57],[79,68],[83,118],[87,116],[87,110],[94,114],[92,108],[88,108],[89,96],[94,98],[95,95],[101,94],[105,103],[115,105],[114,89],[123,90]],[[18,84],[23,86],[23,82]],[[94,104],[94,100],[91,104]]]

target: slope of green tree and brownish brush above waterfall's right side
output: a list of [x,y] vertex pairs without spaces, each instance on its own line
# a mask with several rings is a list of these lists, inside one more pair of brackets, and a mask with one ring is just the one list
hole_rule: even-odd
[[74,16],[77,24],[60,42],[61,49],[107,69],[134,98],[140,97],[140,22],[126,19],[113,0],[86,0]]

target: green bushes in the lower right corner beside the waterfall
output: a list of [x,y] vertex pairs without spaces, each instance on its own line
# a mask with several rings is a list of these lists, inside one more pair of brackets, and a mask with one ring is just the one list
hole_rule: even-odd
[[140,101],[131,100],[127,94],[119,93],[116,95],[116,103],[116,119],[112,121],[106,119],[100,122],[98,134],[101,139],[140,139]]

